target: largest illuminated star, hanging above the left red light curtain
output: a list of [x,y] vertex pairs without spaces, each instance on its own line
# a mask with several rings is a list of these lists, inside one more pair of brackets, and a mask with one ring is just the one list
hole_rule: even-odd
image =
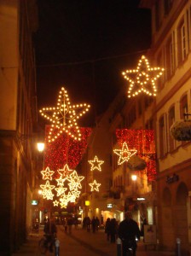
[[55,141],[63,132],[66,132],[74,140],[81,140],[81,132],[77,124],[79,119],[90,108],[87,104],[71,105],[67,90],[61,88],[57,106],[53,108],[42,108],[40,113],[48,119],[52,125],[49,129],[49,143]]

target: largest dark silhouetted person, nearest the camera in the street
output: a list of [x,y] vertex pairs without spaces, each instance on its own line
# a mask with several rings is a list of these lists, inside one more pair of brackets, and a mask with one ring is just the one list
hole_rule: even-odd
[[141,232],[138,224],[132,219],[131,212],[125,212],[125,219],[119,224],[118,236],[122,241],[122,256],[126,256],[129,244],[133,248],[133,256],[136,256],[136,239],[140,239]]

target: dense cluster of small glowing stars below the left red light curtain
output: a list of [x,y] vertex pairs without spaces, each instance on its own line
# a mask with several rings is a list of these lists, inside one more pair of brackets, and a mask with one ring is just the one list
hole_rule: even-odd
[[[67,165],[63,169],[59,169],[58,177],[55,178],[57,186],[50,184],[50,181],[53,181],[54,171],[46,167],[45,171],[41,171],[41,173],[43,180],[46,180],[45,184],[40,185],[41,189],[43,189],[43,199],[53,201],[53,198],[56,196],[57,198],[53,201],[55,207],[60,205],[61,208],[66,208],[68,202],[75,202],[79,197],[81,191],[78,189],[82,189],[81,181],[84,179],[84,176],[78,176],[75,170],[70,170]],[[54,190],[56,193],[53,193]]]

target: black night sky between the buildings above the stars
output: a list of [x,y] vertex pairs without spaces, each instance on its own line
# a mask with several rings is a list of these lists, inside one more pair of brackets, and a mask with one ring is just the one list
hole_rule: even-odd
[[136,67],[150,47],[150,11],[138,3],[38,0],[39,109],[55,106],[61,86],[72,104],[90,103],[90,119],[107,109],[127,83],[121,72]]

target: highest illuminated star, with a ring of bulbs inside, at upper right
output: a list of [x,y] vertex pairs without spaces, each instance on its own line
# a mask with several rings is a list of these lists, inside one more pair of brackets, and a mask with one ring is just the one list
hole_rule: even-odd
[[[129,69],[122,73],[124,79],[130,81],[128,97],[137,96],[141,92],[146,93],[148,96],[156,96],[155,81],[159,79],[164,70],[161,67],[150,67],[148,59],[142,55],[142,59],[139,60],[136,69]],[[130,76],[133,75],[134,79],[131,79]]]

